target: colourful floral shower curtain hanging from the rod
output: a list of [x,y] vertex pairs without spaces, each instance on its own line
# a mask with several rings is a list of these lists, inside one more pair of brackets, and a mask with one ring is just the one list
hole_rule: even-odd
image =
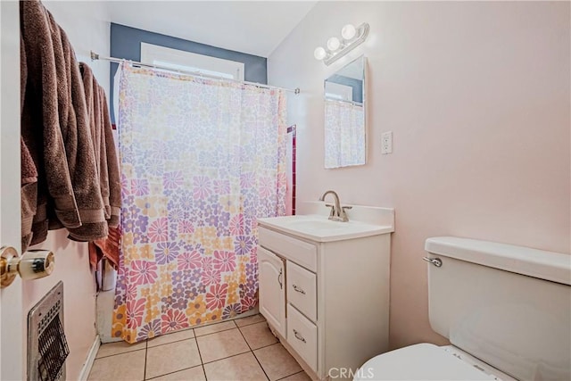
[[112,335],[257,304],[256,219],[285,214],[285,95],[123,64],[122,215]]

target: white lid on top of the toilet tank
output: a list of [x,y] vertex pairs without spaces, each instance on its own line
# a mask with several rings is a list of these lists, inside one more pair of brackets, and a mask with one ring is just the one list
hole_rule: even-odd
[[458,236],[426,239],[428,253],[571,285],[571,255]]

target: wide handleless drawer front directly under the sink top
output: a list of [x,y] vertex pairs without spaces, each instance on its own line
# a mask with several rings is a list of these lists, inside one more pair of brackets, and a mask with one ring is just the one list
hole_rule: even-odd
[[317,272],[318,248],[315,244],[296,239],[285,234],[277,233],[268,228],[258,229],[260,245],[284,256],[285,259],[294,261],[306,269]]

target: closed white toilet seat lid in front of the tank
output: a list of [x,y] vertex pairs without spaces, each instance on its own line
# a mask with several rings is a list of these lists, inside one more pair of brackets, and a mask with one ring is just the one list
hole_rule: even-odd
[[515,380],[452,346],[415,344],[374,357],[357,372],[365,380]]

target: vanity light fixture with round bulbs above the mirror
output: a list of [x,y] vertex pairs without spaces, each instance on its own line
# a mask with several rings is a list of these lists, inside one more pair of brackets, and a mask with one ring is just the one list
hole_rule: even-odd
[[329,66],[343,55],[348,54],[357,46],[360,46],[368,36],[368,23],[363,22],[358,27],[347,24],[341,29],[341,37],[331,37],[327,40],[327,49],[319,46],[313,51],[316,60],[322,61]]

